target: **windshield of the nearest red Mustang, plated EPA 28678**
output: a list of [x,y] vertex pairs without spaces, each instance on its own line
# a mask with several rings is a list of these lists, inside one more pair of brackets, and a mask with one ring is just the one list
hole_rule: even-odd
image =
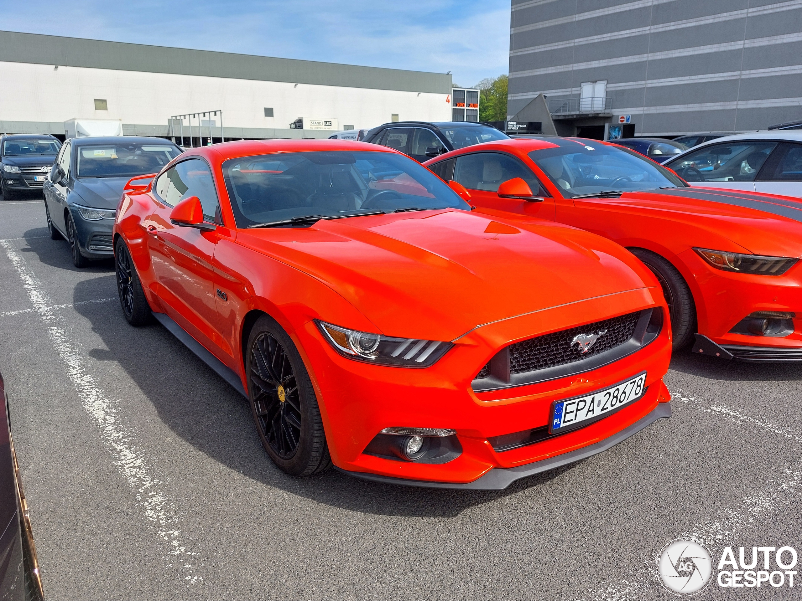
[[435,174],[394,152],[287,152],[223,163],[238,228],[348,212],[460,208],[467,203]]

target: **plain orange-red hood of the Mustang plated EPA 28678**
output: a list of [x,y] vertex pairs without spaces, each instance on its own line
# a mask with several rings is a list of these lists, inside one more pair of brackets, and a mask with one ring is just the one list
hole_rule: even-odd
[[628,252],[600,236],[451,209],[253,229],[237,243],[322,280],[389,336],[449,341],[492,321],[650,285]]

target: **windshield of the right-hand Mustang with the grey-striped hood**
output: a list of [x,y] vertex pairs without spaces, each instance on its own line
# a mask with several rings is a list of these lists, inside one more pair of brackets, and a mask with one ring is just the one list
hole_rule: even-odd
[[559,143],[557,148],[532,151],[529,157],[566,198],[606,190],[685,187],[682,179],[637,152],[593,140]]

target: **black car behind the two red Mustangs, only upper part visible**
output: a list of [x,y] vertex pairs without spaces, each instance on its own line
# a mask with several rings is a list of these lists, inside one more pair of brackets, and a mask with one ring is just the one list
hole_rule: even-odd
[[419,163],[457,148],[500,139],[509,136],[491,125],[469,121],[394,121],[375,127],[365,136],[365,142],[395,148]]

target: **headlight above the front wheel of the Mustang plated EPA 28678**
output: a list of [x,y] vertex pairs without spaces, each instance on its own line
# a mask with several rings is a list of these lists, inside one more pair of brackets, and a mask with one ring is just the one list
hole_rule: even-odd
[[428,367],[453,346],[451,342],[393,338],[341,328],[324,321],[315,320],[315,323],[334,350],[341,355],[379,365]]

